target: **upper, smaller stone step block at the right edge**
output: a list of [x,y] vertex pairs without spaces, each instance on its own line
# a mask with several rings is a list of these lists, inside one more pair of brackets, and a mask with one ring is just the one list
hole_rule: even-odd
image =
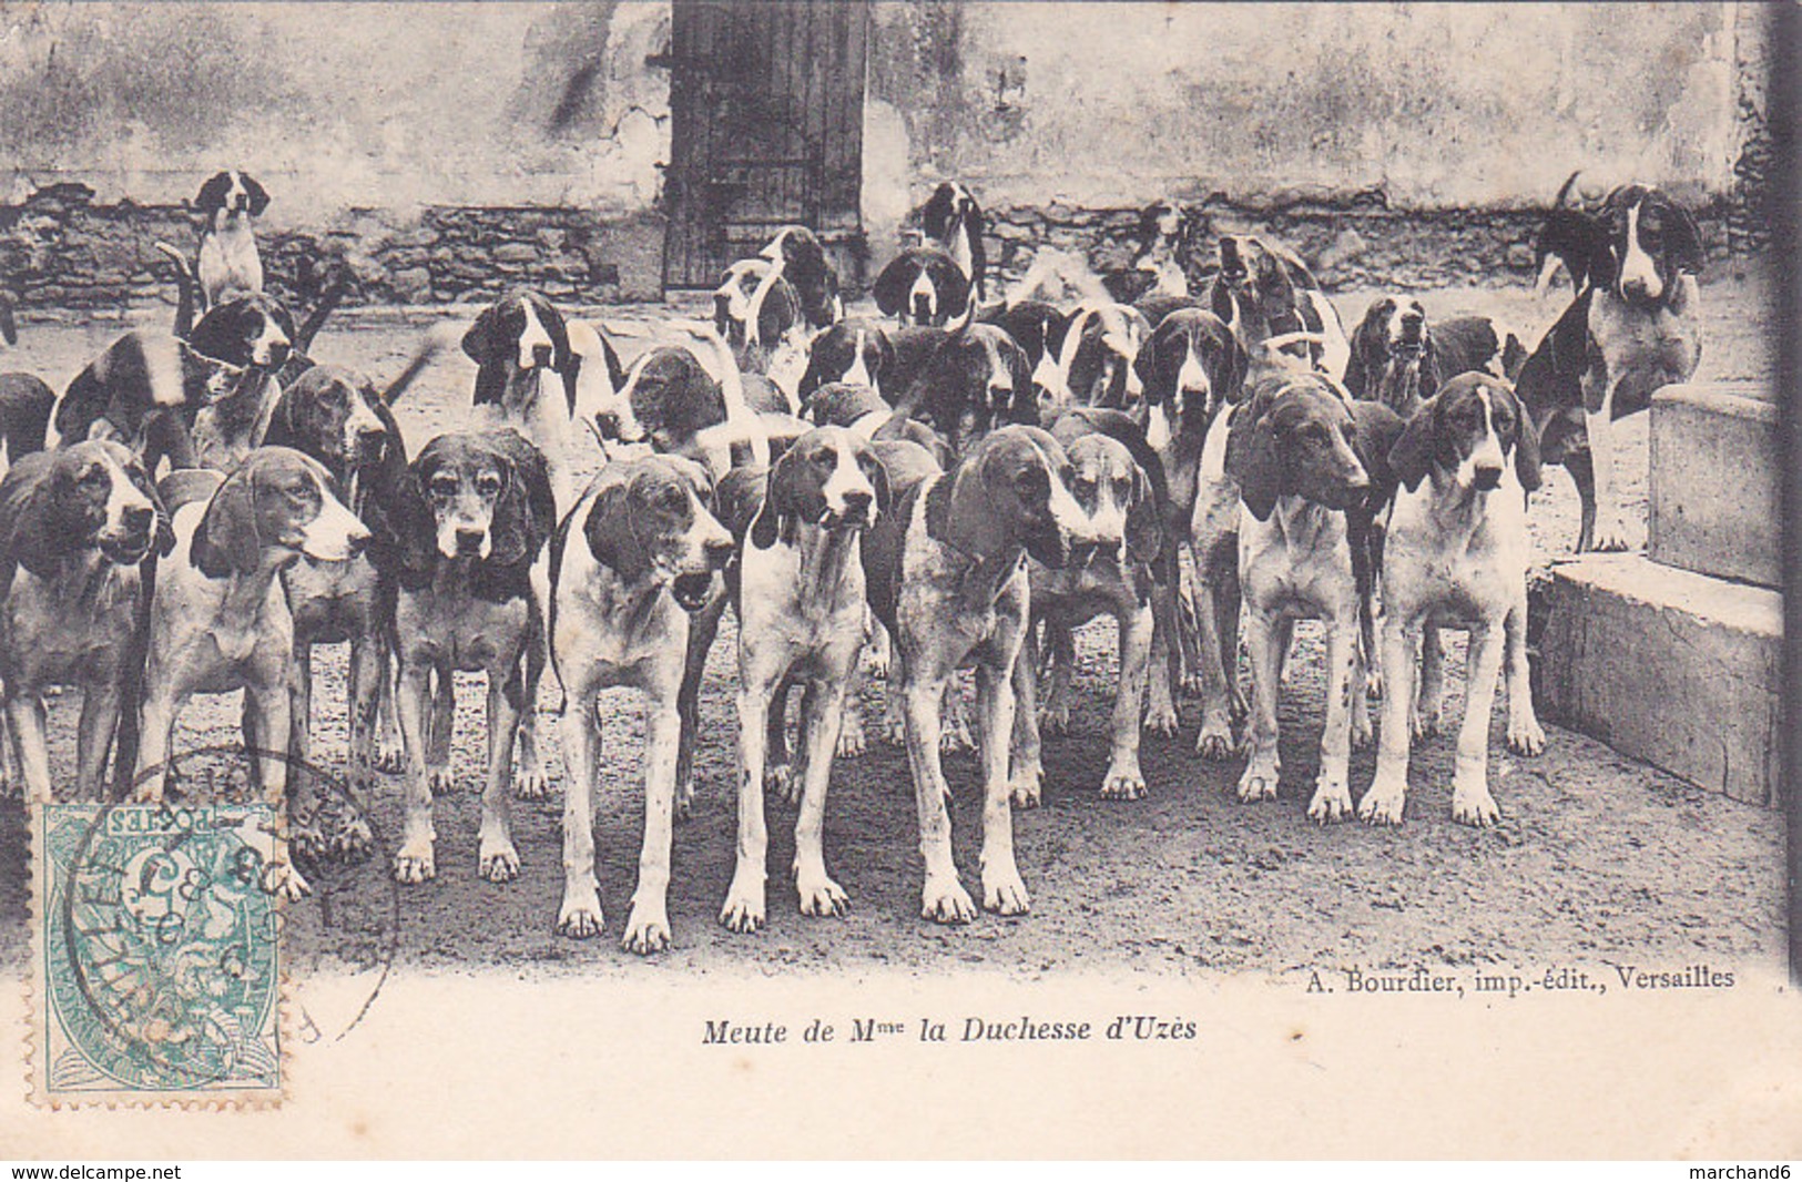
[[1652,398],[1645,553],[1699,575],[1782,586],[1777,404],[1750,382]]

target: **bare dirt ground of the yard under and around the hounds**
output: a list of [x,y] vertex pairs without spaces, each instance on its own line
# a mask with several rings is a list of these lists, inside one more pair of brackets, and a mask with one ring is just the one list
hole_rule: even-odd
[[[1725,272],[1725,268],[1723,268]],[[1773,359],[1762,283],[1723,274],[1705,286],[1706,350],[1699,378],[1770,378]],[[1348,323],[1371,292],[1337,297]],[[1550,321],[1524,288],[1465,288],[1433,294],[1429,314],[1485,312],[1537,330]],[[141,310],[132,323],[160,321]],[[658,308],[605,308],[631,360],[665,315]],[[427,319],[411,314],[342,315],[315,355],[396,373]],[[67,380],[123,328],[119,317],[27,319],[7,369],[32,369],[52,386]],[[474,366],[445,355],[407,393],[400,420],[409,450],[461,422]],[[1629,523],[1643,539],[1645,416],[1629,420],[1622,474]],[[1535,551],[1544,562],[1575,542],[1577,503],[1562,470],[1532,508]],[[786,867],[793,856],[793,805],[769,809],[769,924],[732,935],[715,917],[733,859],[732,712],[733,632],[723,629],[708,665],[697,751],[694,818],[676,831],[670,917],[674,946],[651,962],[618,948],[636,876],[642,825],[643,721],[629,692],[605,703],[607,762],[596,800],[602,905],[607,933],[575,942],[551,932],[562,890],[560,795],[515,805],[521,877],[490,885],[476,877],[476,820],[485,721],[476,677],[458,681],[452,766],[458,791],[438,800],[438,879],[396,888],[386,858],[312,870],[315,896],[292,908],[288,964],[362,968],[393,948],[402,968],[503,971],[843,973],[903,969],[941,973],[986,966],[1033,978],[1072,969],[1148,973],[1283,973],[1312,966],[1411,968],[1416,964],[1550,966],[1566,959],[1638,964],[1777,968],[1782,955],[1782,816],[1705,793],[1620,757],[1606,746],[1548,726],[1541,759],[1515,759],[1501,746],[1501,701],[1492,737],[1499,827],[1478,832],[1449,816],[1451,739],[1416,744],[1407,823],[1317,829],[1305,816],[1317,768],[1323,715],[1321,645],[1299,632],[1296,674],[1283,699],[1283,787],[1274,804],[1233,798],[1240,764],[1209,764],[1193,753],[1195,708],[1186,705],[1177,741],[1146,737],[1141,753],[1150,795],[1105,802],[1096,795],[1106,762],[1112,701],[1112,625],[1079,636],[1078,712],[1072,733],[1047,739],[1045,807],[1018,813],[1018,859],[1033,914],[984,914],[964,928],[939,928],[917,915],[919,874],[914,800],[901,750],[874,742],[861,759],[840,760],[827,805],[827,865],[849,890],[843,919],[804,919]],[[1461,652],[1461,640],[1452,645]],[[326,766],[344,760],[344,654],[326,649],[315,668],[315,751]],[[1456,668],[1456,667],[1454,667]],[[551,771],[562,777],[546,685],[544,732]],[[867,712],[879,714],[876,692]],[[50,703],[52,764],[70,768],[77,694]],[[1452,679],[1449,719],[1460,717]],[[196,699],[182,719],[177,750],[236,741],[238,701]],[[874,732],[876,728],[872,728]],[[1352,760],[1353,795],[1370,784],[1375,755]],[[968,753],[948,760],[955,789],[953,831],[966,885],[977,881],[980,804]],[[380,841],[400,827],[398,780],[373,802]],[[25,950],[27,852],[23,809],[0,802],[0,966],[18,971]]]

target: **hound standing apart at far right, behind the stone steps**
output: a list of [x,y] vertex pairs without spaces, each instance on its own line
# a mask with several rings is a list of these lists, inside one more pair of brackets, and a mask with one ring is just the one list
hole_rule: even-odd
[[1555,247],[1577,297],[1521,366],[1515,391],[1541,458],[1577,485],[1577,550],[1625,550],[1613,423],[1696,373],[1706,254],[1690,213],[1656,187],[1622,186],[1598,214],[1564,218]]

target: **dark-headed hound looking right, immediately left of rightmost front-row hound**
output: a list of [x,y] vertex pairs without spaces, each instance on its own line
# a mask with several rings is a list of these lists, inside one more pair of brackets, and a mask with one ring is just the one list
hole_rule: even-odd
[[1315,373],[1258,382],[1233,425],[1225,467],[1240,488],[1238,577],[1251,656],[1251,757],[1240,800],[1276,796],[1276,699],[1297,618],[1324,618],[1326,728],[1308,816],[1350,816],[1348,760],[1370,742],[1359,632],[1371,578],[1370,523],[1384,503],[1400,420],[1375,402],[1348,405]]

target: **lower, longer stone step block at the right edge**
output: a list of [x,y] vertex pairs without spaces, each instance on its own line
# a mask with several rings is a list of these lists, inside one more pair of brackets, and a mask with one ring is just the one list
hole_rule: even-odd
[[1734,800],[1780,804],[1782,595],[1593,553],[1552,568],[1548,600],[1543,717]]

